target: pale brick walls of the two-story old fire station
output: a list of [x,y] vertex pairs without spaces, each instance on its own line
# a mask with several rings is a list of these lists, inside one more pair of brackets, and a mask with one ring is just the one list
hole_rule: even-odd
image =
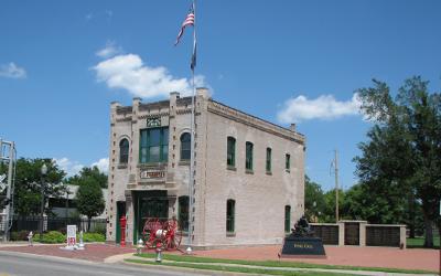
[[[117,202],[125,206],[121,214],[127,215],[126,241],[139,238],[139,224],[144,219],[140,214],[140,204],[144,204],[141,194],[149,194],[149,191],[166,194],[168,216],[179,216],[179,199],[189,195],[190,179],[190,161],[180,158],[180,138],[190,132],[191,108],[192,98],[181,98],[178,93],[171,93],[170,99],[163,102],[143,104],[135,98],[132,106],[111,104],[108,241],[118,240]],[[168,161],[141,163],[140,131],[150,127],[168,127]],[[236,140],[234,167],[228,167],[226,161],[227,137]],[[130,145],[127,163],[119,161],[121,139],[128,139]],[[247,141],[254,145],[252,170],[245,169]],[[217,103],[208,97],[207,89],[198,88],[195,97],[193,245],[281,243],[286,206],[291,210],[291,224],[304,210],[304,137],[294,129]],[[270,171],[266,170],[267,148],[271,149]],[[287,155],[290,156],[289,169],[286,169]],[[235,201],[234,232],[228,233],[227,200]]]

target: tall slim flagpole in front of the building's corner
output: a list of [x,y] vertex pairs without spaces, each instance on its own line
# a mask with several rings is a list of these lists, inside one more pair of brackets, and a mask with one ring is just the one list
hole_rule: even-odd
[[[194,12],[194,24],[193,24],[193,54],[196,46],[196,1],[193,0],[193,12]],[[192,56],[193,62],[193,56]],[[193,242],[193,217],[194,217],[194,206],[193,206],[193,193],[194,193],[194,121],[195,121],[195,95],[196,95],[196,86],[194,83],[194,67],[193,63],[191,66],[192,70],[192,117],[191,117],[191,147],[190,147],[190,180],[189,180],[189,247],[186,248],[187,254],[192,254],[192,242]]]

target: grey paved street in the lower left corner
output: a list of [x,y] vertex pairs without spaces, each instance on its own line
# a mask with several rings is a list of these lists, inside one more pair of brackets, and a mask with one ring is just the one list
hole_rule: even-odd
[[32,256],[22,253],[0,252],[0,276],[114,276],[114,275],[203,275],[176,270],[137,267],[123,264],[92,263],[82,259],[68,259],[47,256]]

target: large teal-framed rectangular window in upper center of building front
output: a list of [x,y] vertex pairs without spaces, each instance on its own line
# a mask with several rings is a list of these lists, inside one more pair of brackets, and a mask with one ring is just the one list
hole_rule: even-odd
[[141,129],[140,162],[166,162],[169,160],[169,128]]

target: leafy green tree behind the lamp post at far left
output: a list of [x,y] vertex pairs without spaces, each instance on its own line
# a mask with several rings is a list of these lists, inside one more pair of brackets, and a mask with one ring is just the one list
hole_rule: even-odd
[[[47,174],[43,178],[41,167],[47,167]],[[0,167],[0,174],[6,173],[7,167]],[[44,201],[49,198],[60,198],[66,173],[50,158],[17,160],[15,184],[13,193],[14,212],[19,215],[40,214],[41,210],[41,184],[44,181]],[[44,204],[46,206],[46,204]],[[45,210],[47,212],[49,210]]]

